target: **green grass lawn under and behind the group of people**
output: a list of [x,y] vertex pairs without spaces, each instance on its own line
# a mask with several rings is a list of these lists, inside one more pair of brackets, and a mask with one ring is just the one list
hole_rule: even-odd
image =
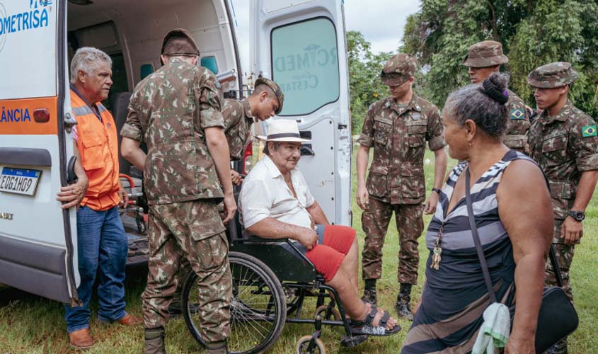
[[[355,155],[355,154],[354,154]],[[429,164],[425,164],[427,190],[432,186],[434,166],[433,155],[426,153]],[[355,161],[355,156],[354,156]],[[449,162],[449,168],[454,161]],[[355,164],[353,166],[352,195],[355,195]],[[594,194],[596,195],[596,194]],[[516,206],[514,206],[516,207]],[[357,229],[360,244],[364,234],[361,228],[361,210],[355,198],[352,200],[353,227]],[[584,222],[584,238],[581,246],[575,250],[573,262],[572,284],[575,294],[575,307],[580,316],[580,327],[570,337],[570,353],[598,353],[598,277],[595,272],[596,255],[598,254],[598,202],[593,198],[587,208]],[[524,216],[522,216],[524,217]],[[430,217],[425,217],[425,224]],[[420,239],[420,280],[413,288],[414,302],[421,293],[427,249]],[[391,310],[398,292],[396,268],[398,262],[398,236],[396,227],[391,224],[386,246],[384,247],[383,279],[378,282],[379,302],[381,307]],[[145,286],[144,270],[132,271],[127,275],[127,310],[142,316],[140,295]],[[143,329],[130,329],[119,325],[100,324],[97,319],[97,298],[91,301],[91,331],[96,339],[88,353],[142,353]],[[304,312],[306,313],[306,312]],[[392,310],[391,313],[394,313]],[[394,313],[396,314],[396,313]],[[340,346],[339,340],[343,331],[335,327],[323,331],[322,340],[328,353],[398,353],[401,343],[410,326],[408,321],[400,321],[403,330],[396,336],[369,338],[368,341],[352,349]],[[269,353],[294,353],[297,339],[313,333],[313,326],[287,324],[282,336]],[[168,353],[202,353],[188,333],[182,319],[170,321],[166,333],[166,350]],[[0,353],[72,353],[69,348],[64,308],[62,304],[34,295],[18,292],[11,288],[0,287]]]

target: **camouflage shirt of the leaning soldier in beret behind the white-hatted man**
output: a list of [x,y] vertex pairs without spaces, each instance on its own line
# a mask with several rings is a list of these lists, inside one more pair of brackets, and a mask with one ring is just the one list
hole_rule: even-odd
[[224,118],[224,135],[229,142],[231,160],[240,160],[251,131],[251,107],[247,99],[236,101],[227,98],[222,101],[222,117]]

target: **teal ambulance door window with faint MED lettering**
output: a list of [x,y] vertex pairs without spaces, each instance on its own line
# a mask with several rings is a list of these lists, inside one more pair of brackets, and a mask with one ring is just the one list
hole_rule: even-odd
[[307,115],[338,100],[336,30],[312,18],[272,30],[272,79],[284,92],[280,115]]

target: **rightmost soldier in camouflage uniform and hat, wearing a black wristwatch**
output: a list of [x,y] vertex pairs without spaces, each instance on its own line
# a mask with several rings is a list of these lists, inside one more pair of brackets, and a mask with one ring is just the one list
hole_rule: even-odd
[[[531,157],[548,178],[554,211],[553,248],[565,292],[573,301],[569,270],[575,245],[583,234],[585,208],[598,179],[596,122],[575,108],[568,91],[577,73],[567,62],[546,64],[527,76],[536,89],[534,97],[543,110],[528,135]],[[550,261],[546,262],[546,284],[556,285]],[[557,343],[548,353],[567,353],[567,342]]]

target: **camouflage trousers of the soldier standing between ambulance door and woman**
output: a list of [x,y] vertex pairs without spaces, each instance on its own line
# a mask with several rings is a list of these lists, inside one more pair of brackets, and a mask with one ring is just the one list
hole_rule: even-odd
[[397,279],[401,284],[417,284],[420,253],[418,238],[424,229],[420,204],[390,204],[369,198],[362,214],[365,242],[362,251],[363,279],[380,279],[382,275],[382,247],[395,214],[400,249],[398,251]]

